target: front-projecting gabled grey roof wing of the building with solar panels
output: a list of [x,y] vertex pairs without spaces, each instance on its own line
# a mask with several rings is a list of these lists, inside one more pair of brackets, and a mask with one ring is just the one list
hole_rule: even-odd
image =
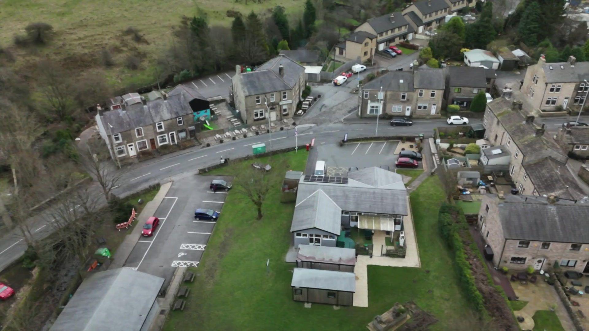
[[303,197],[299,184],[290,231],[316,228],[339,235],[342,230],[340,226],[342,208],[337,206],[320,187],[314,188],[313,193],[305,194],[305,197],[299,200],[299,197]]

